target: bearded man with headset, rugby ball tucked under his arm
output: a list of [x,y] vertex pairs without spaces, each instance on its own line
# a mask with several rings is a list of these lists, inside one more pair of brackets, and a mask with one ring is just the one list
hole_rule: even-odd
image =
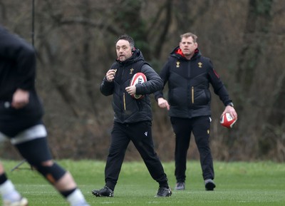
[[[162,88],[162,80],[145,62],[140,50],[135,48],[133,38],[128,35],[120,36],[115,48],[118,59],[107,71],[100,86],[103,95],[113,95],[115,113],[109,155],[105,165],[105,186],[100,190],[93,190],[92,193],[96,197],[113,197],[125,151],[132,141],[150,175],[159,183],[156,197],[168,197],[172,192],[152,140],[152,110],[149,96]],[[147,81],[130,86],[131,78],[139,72],[145,74]],[[143,97],[133,98],[135,94]]]

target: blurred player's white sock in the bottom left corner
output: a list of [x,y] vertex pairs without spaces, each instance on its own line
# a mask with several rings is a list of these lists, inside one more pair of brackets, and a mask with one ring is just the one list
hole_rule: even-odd
[[0,193],[4,200],[10,200],[11,202],[21,200],[21,195],[15,189],[11,180],[6,180],[6,182],[0,185]]

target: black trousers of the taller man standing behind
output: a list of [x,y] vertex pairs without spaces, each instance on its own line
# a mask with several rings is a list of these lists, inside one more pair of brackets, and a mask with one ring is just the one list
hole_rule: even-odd
[[171,117],[172,128],[175,133],[175,177],[177,182],[185,182],[187,150],[190,145],[190,136],[193,133],[199,150],[202,176],[204,180],[214,179],[214,167],[211,149],[209,148],[209,116],[197,118]]

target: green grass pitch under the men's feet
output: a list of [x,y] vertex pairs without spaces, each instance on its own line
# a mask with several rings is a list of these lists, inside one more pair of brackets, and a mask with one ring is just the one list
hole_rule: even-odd
[[[19,162],[2,160],[6,173],[28,198],[30,206],[59,206],[68,203],[53,190],[27,163],[19,170],[14,168]],[[60,160],[63,167],[71,171],[90,205],[112,206],[145,206],[145,205],[192,205],[192,206],[235,206],[285,205],[285,164],[258,163],[222,163],[214,162],[214,191],[205,191],[199,162],[187,163],[186,190],[172,190],[172,197],[155,198],[157,182],[152,180],[144,163],[126,162],[120,172],[115,197],[94,197],[91,190],[100,189],[104,185],[105,162],[95,160]],[[175,185],[174,163],[163,163],[171,187]]]

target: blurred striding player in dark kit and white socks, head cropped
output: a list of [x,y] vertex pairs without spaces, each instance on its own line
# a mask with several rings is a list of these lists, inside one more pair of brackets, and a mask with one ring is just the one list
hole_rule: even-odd
[[[53,162],[42,123],[43,108],[36,94],[33,46],[0,26],[0,139],[8,138],[21,156],[71,206],[88,206],[69,172]],[[4,206],[26,206],[0,163],[0,195]]]

